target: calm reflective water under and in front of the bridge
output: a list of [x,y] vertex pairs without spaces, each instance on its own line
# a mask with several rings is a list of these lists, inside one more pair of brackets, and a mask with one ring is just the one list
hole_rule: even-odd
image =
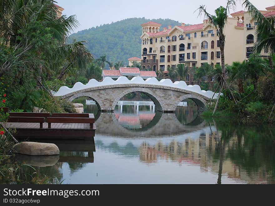
[[175,114],[130,96],[114,113],[94,113],[94,141],[56,141],[60,156],[19,161],[63,183],[275,183],[275,130],[236,121],[204,120],[186,100]]

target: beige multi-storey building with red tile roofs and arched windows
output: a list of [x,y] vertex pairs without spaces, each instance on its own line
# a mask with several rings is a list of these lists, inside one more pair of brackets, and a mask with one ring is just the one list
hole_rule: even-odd
[[[274,7],[262,11],[268,14],[275,10]],[[161,70],[168,73],[168,68],[176,67],[179,63],[185,63],[188,67],[200,67],[203,63],[221,64],[221,52],[217,29],[208,21],[201,24],[168,28],[159,30],[161,24],[148,22],[141,25],[141,67],[153,71]],[[255,28],[257,23],[245,11],[238,11],[227,18],[224,29],[225,63],[247,59],[251,54],[256,41]],[[252,36],[253,37],[252,37]],[[268,51],[262,51],[267,54]]]

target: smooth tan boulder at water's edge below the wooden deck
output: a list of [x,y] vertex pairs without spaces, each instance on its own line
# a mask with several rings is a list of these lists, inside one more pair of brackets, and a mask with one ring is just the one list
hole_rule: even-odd
[[52,143],[21,142],[14,145],[14,152],[32,156],[59,155],[59,149]]

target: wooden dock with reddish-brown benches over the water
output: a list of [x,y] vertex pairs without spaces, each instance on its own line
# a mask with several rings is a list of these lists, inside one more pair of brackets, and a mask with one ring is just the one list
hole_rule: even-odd
[[[22,117],[22,115],[24,117]],[[96,126],[93,114],[10,113],[6,128],[15,128],[18,139],[92,139]],[[42,114],[43,115],[43,114]],[[21,116],[21,117],[19,117]]]

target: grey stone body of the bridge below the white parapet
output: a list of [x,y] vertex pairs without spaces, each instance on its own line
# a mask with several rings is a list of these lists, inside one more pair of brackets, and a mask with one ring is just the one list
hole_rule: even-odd
[[61,96],[72,102],[78,97],[90,97],[97,103],[102,111],[113,111],[118,101],[128,93],[142,92],[147,94],[155,103],[156,109],[161,112],[173,112],[176,110],[178,103],[190,98],[199,110],[204,110],[209,98],[188,90],[173,88],[160,85],[107,85],[101,87],[86,88],[80,91],[68,93]]

